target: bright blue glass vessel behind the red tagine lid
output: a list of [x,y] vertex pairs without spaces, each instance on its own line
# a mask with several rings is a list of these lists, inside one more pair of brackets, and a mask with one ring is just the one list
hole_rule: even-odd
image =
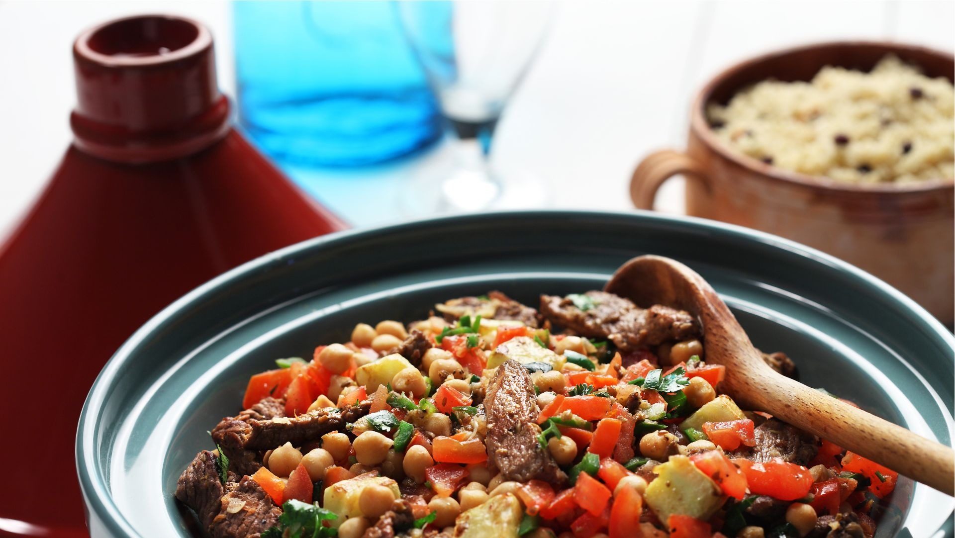
[[269,155],[356,166],[440,136],[391,2],[246,1],[233,15],[240,121]]

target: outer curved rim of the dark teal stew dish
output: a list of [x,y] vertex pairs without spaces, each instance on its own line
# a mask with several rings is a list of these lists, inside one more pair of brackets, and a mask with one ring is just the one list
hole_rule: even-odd
[[320,249],[330,243],[340,241],[351,241],[356,238],[374,237],[384,232],[407,232],[418,227],[443,226],[445,223],[472,222],[496,220],[502,217],[578,217],[578,218],[613,218],[613,219],[645,219],[661,223],[675,224],[685,227],[702,227],[711,232],[713,238],[727,239],[746,239],[758,242],[766,248],[781,249],[789,251],[801,257],[816,261],[824,266],[838,270],[848,275],[848,278],[855,279],[871,293],[881,294],[886,300],[890,300],[904,310],[909,311],[916,317],[926,329],[926,336],[933,336],[948,347],[955,349],[955,335],[949,333],[944,325],[929,314],[914,300],[903,295],[902,292],[893,288],[886,282],[878,279],[858,267],[851,265],[833,256],[820,252],[814,248],[796,243],[790,239],[780,238],[772,234],[760,232],[743,226],[727,224],[715,220],[699,217],[670,216],[651,211],[573,211],[573,210],[513,210],[497,211],[486,213],[469,213],[450,217],[428,217],[415,219],[407,222],[385,224],[381,226],[358,228],[331,233],[318,238],[311,238],[301,241],[285,248],[265,254],[259,258],[246,261],[242,265],[235,267],[214,279],[210,279],[200,286],[194,288],[180,299],[175,300],[168,306],[159,311],[153,318],[146,321],[133,335],[125,341],[117,352],[103,366],[103,369],[96,376],[86,401],[83,403],[80,412],[79,421],[76,429],[76,441],[74,457],[76,462],[77,476],[79,478],[80,489],[87,512],[87,526],[91,521],[96,521],[97,528],[108,531],[114,536],[139,536],[137,530],[133,528],[130,522],[122,515],[113,500],[113,496],[107,486],[106,481],[99,472],[96,458],[98,452],[97,445],[97,421],[104,403],[109,398],[110,389],[115,383],[117,376],[123,371],[123,363],[128,361],[130,355],[137,350],[138,346],[149,337],[152,332],[160,325],[174,321],[182,316],[189,307],[195,303],[202,302],[207,297],[219,293],[223,288],[228,287],[236,279],[251,274],[261,274],[273,267],[280,267],[286,263],[286,259],[292,255],[306,255],[313,249]]

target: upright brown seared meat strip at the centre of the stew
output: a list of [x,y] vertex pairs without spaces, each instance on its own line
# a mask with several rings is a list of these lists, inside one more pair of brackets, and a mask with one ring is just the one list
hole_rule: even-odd
[[487,415],[487,456],[507,480],[540,479],[561,484],[566,475],[550,452],[541,448],[535,423],[540,410],[534,383],[520,362],[509,360],[498,367],[484,397]]

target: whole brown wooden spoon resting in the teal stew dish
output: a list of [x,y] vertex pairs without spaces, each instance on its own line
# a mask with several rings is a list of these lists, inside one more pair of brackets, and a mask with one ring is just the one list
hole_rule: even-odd
[[664,304],[703,323],[706,361],[726,366],[720,390],[758,409],[948,495],[955,494],[955,452],[902,426],[842,403],[777,373],[763,362],[710,284],[686,265],[641,256],[622,265],[605,291],[641,306]]

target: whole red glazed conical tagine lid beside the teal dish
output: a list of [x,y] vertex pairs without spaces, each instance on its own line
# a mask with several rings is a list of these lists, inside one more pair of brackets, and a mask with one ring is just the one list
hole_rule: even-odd
[[231,128],[202,25],[117,20],[80,35],[74,59],[74,145],[0,247],[3,407],[17,417],[0,444],[0,535],[87,535],[76,421],[139,325],[227,269],[345,227]]

